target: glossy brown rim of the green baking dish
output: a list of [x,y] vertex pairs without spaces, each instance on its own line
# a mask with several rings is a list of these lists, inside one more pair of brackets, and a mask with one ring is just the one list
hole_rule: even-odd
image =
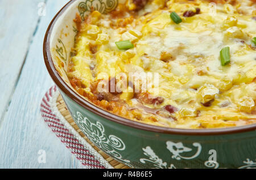
[[170,128],[170,127],[161,127],[148,125],[146,123],[141,123],[137,121],[133,121],[131,119],[120,117],[119,115],[107,112],[104,109],[99,108],[94,105],[92,102],[82,98],[77,92],[75,92],[65,81],[59,73],[56,71],[55,66],[53,65],[51,51],[50,51],[50,38],[52,34],[52,29],[59,19],[59,17],[63,14],[65,10],[76,0],[69,1],[52,19],[49,24],[46,35],[44,37],[43,42],[43,55],[44,62],[46,63],[47,70],[49,75],[56,83],[56,85],[63,91],[66,95],[68,95],[73,101],[77,102],[77,104],[81,105],[83,108],[88,109],[90,112],[94,114],[100,115],[103,118],[109,119],[109,121],[113,121],[115,123],[119,123],[121,125],[137,128],[139,130],[151,131],[151,132],[159,132],[163,134],[176,134],[176,135],[223,135],[223,134],[234,134],[239,132],[253,131],[256,130],[256,124],[246,125],[246,126],[238,126],[238,127],[228,127],[228,128],[206,128],[206,129],[183,129],[183,128]]

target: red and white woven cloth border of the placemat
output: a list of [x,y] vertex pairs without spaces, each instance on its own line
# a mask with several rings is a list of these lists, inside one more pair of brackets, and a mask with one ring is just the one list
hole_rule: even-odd
[[67,122],[57,109],[59,96],[56,86],[51,87],[41,103],[41,114],[48,127],[71,153],[88,169],[113,168],[79,133]]

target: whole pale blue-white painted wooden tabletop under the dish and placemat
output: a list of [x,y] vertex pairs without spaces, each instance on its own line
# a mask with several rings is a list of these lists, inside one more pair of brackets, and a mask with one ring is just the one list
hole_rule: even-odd
[[[83,168],[40,116],[53,85],[43,61],[44,33],[67,2],[0,0],[0,168]],[[40,149],[45,164],[38,162]]]

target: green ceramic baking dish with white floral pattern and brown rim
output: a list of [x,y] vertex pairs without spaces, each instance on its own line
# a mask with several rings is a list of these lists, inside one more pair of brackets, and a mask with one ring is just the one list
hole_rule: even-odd
[[[106,154],[133,168],[255,167],[255,124],[203,129],[148,125],[99,108],[72,87],[67,74],[69,57],[77,55],[72,50],[79,36],[77,23],[73,22],[76,14],[89,16],[92,8],[101,14],[109,14],[123,3],[115,0],[70,1],[53,18],[46,32],[44,61],[81,131]],[[246,8],[247,12],[250,12],[249,8]],[[184,19],[183,14],[177,14]],[[232,65],[232,57],[230,48],[227,66]]]

